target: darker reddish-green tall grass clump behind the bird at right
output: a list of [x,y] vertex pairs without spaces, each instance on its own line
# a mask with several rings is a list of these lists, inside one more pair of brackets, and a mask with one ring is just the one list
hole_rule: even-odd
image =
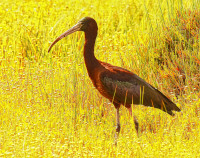
[[162,40],[156,42],[158,56],[155,59],[164,69],[165,77],[172,83],[170,89],[176,95],[185,93],[188,88],[192,88],[192,92],[199,90],[199,30],[198,10],[177,11],[170,24],[163,27]]

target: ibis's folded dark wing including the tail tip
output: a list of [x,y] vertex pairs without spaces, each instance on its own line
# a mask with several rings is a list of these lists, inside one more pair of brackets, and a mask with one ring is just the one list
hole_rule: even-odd
[[170,115],[173,115],[172,110],[180,111],[176,104],[136,74],[119,67],[111,70],[103,72],[100,80],[113,102],[153,106]]

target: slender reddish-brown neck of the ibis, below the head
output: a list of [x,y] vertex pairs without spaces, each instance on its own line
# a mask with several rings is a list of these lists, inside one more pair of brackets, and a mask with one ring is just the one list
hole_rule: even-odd
[[94,56],[95,41],[96,35],[89,36],[87,33],[85,34],[84,59],[91,79],[94,77],[96,69],[100,66],[99,61]]

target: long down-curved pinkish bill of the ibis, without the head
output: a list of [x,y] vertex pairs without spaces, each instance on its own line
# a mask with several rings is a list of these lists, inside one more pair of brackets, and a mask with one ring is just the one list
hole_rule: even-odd
[[73,26],[71,29],[67,30],[66,32],[64,32],[63,34],[61,34],[58,38],[55,39],[55,41],[53,41],[53,43],[50,45],[48,52],[50,52],[51,48],[54,46],[54,44],[56,44],[58,41],[60,41],[62,38],[66,37],[67,35],[70,35],[76,31],[80,31],[82,24],[78,23],[75,26]]

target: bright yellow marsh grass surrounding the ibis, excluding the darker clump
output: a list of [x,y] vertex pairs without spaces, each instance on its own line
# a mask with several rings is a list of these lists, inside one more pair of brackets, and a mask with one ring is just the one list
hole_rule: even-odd
[[[93,87],[83,60],[84,34],[50,43],[85,16],[96,19],[98,59],[127,68],[161,91],[151,47],[176,10],[199,2],[159,0],[11,1],[0,3],[1,157],[200,157],[199,91],[178,99],[175,117],[135,106],[140,123],[121,108],[122,131],[114,145],[115,109]],[[148,46],[145,54],[141,46]],[[176,59],[174,59],[176,60]],[[162,84],[159,84],[162,83]],[[186,85],[187,86],[187,85]]]

